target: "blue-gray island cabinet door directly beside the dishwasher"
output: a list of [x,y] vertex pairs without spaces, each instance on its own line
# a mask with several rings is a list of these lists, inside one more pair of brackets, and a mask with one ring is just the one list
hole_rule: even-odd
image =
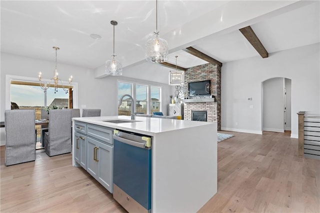
[[113,147],[97,142],[98,178],[97,180],[108,191],[113,192]]

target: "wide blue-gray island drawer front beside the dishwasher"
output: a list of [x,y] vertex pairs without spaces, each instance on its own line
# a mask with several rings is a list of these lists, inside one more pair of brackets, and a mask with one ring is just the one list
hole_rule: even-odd
[[94,125],[94,124],[87,124],[86,134],[90,137],[100,140],[101,142],[113,144],[112,128]]

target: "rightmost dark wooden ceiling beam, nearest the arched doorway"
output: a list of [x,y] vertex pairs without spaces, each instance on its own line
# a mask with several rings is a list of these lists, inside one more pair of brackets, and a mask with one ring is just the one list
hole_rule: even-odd
[[255,48],[255,50],[261,55],[262,58],[268,57],[268,52],[262,45],[259,38],[254,33],[251,26],[246,26],[239,29],[240,32],[244,35],[244,37],[251,43],[251,45]]

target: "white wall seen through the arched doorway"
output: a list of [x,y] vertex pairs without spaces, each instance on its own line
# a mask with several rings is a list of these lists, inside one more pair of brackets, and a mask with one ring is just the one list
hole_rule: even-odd
[[284,78],[263,81],[262,130],[284,132]]

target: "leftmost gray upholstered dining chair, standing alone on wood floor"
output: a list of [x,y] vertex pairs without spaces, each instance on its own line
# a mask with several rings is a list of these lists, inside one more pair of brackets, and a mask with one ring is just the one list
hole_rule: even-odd
[[34,120],[34,109],[4,111],[5,165],[35,160]]

